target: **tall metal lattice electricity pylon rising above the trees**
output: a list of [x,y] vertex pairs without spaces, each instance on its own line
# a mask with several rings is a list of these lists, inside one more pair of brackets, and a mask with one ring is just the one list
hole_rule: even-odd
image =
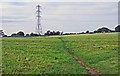
[[40,11],[41,6],[37,5],[37,33],[38,35],[42,34],[42,26],[41,26],[41,11]]

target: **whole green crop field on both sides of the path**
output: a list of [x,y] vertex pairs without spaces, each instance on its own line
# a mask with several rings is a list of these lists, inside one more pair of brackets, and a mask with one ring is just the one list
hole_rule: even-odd
[[3,74],[118,74],[118,33],[2,38]]

